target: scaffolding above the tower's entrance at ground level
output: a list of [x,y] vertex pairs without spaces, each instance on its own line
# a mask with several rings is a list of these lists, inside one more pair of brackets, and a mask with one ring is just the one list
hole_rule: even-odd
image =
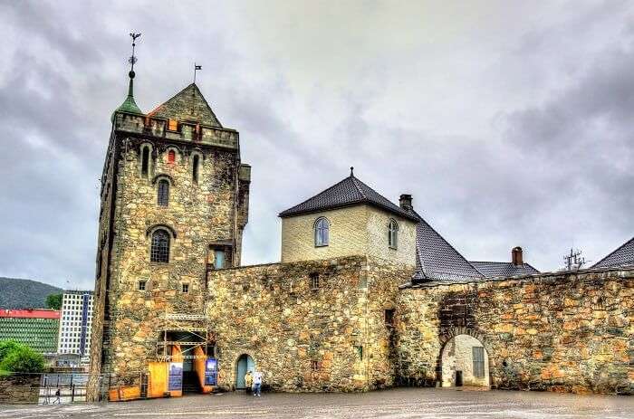
[[[157,342],[157,360],[172,361],[172,348],[178,346],[179,359],[206,358],[209,354],[209,343],[213,334],[207,330],[207,316],[200,314],[164,313],[161,339]],[[173,338],[174,335],[180,336]],[[195,348],[202,348],[202,355],[194,355]],[[213,346],[212,346],[213,348]],[[212,354],[213,355],[213,354]]]

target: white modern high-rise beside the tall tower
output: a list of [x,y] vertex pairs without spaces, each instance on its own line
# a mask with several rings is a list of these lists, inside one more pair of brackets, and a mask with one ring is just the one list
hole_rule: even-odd
[[92,291],[64,290],[57,353],[76,355],[77,363],[87,363],[91,353],[91,326]]

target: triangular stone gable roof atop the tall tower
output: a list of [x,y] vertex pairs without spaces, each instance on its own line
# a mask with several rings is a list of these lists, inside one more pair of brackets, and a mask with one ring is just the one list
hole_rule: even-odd
[[202,125],[222,128],[220,121],[196,83],[180,90],[170,100],[149,112],[149,116],[197,122]]

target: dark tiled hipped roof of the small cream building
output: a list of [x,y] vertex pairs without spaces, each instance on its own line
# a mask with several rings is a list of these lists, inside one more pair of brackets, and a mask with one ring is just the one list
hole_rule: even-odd
[[352,205],[372,205],[379,207],[392,214],[400,215],[418,223],[418,216],[412,214],[398,205],[392,204],[388,198],[380,195],[377,191],[361,182],[358,178],[351,175],[305,200],[302,204],[295,205],[279,215],[288,217],[300,214],[311,214],[320,211],[342,208]]

